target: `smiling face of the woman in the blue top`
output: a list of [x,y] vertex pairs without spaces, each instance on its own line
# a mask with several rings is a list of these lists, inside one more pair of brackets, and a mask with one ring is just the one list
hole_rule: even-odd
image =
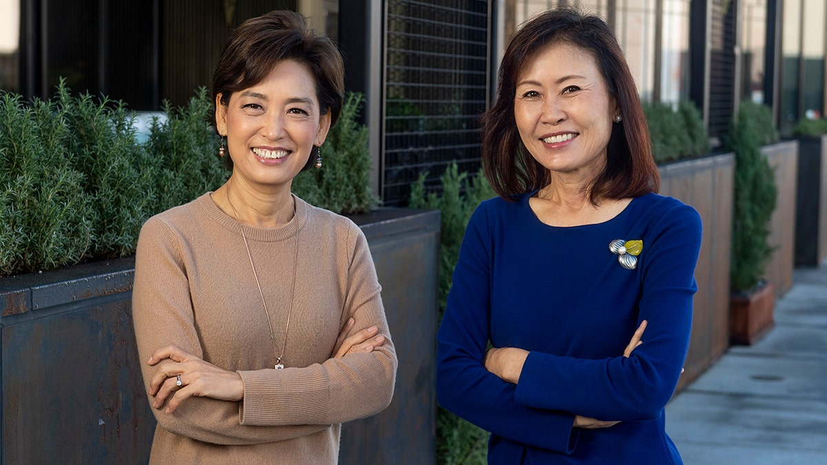
[[517,75],[514,119],[533,158],[555,173],[594,180],[619,114],[591,53],[566,42],[533,55]]

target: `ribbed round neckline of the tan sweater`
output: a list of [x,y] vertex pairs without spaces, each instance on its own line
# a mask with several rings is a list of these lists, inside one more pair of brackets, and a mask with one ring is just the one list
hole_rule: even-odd
[[295,209],[293,218],[291,218],[287,224],[278,228],[256,228],[255,226],[247,226],[246,224],[239,223],[235,218],[232,218],[227,213],[224,213],[222,209],[218,208],[211,194],[213,194],[212,191],[201,195],[195,200],[195,203],[203,209],[203,212],[206,213],[210,219],[218,223],[222,228],[227,229],[227,231],[241,236],[241,228],[243,228],[247,239],[251,241],[284,241],[298,234],[299,230],[304,228],[304,224],[307,223],[308,204],[292,193],[290,195],[293,196]]

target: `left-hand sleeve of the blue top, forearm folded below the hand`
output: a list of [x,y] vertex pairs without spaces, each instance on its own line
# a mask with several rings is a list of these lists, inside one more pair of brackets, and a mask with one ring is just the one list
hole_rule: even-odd
[[561,453],[574,450],[574,415],[517,401],[517,386],[485,369],[490,335],[490,239],[485,204],[462,240],[447,308],[437,333],[440,405],[506,439]]

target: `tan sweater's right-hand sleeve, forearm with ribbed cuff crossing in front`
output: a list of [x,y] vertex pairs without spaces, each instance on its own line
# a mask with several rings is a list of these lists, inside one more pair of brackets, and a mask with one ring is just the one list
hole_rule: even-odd
[[348,244],[345,312],[356,320],[352,332],[375,325],[385,344],[309,367],[240,372],[245,388],[241,424],[337,424],[390,405],[397,359],[381,288],[366,238],[356,225],[351,225]]

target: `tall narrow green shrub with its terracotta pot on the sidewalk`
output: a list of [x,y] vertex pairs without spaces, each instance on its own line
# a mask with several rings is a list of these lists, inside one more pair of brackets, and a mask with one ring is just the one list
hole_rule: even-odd
[[764,280],[772,247],[767,238],[776,207],[777,188],[760,146],[753,108],[739,108],[729,132],[735,153],[734,213],[732,226],[732,297],[729,310],[731,343],[751,344],[772,328],[775,295]]

